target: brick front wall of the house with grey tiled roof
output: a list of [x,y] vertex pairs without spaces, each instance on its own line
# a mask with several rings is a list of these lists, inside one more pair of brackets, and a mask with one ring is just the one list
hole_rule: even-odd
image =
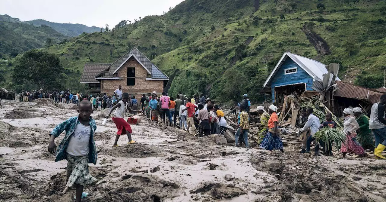
[[[127,85],[127,68],[135,68],[135,85]],[[151,93],[154,90],[161,93],[164,89],[163,80],[146,80],[148,72],[142,65],[131,57],[127,62],[116,72],[117,77],[122,80],[101,80],[101,93],[112,95],[119,85],[122,86],[122,92],[134,94],[136,98],[141,98],[142,94]]]

